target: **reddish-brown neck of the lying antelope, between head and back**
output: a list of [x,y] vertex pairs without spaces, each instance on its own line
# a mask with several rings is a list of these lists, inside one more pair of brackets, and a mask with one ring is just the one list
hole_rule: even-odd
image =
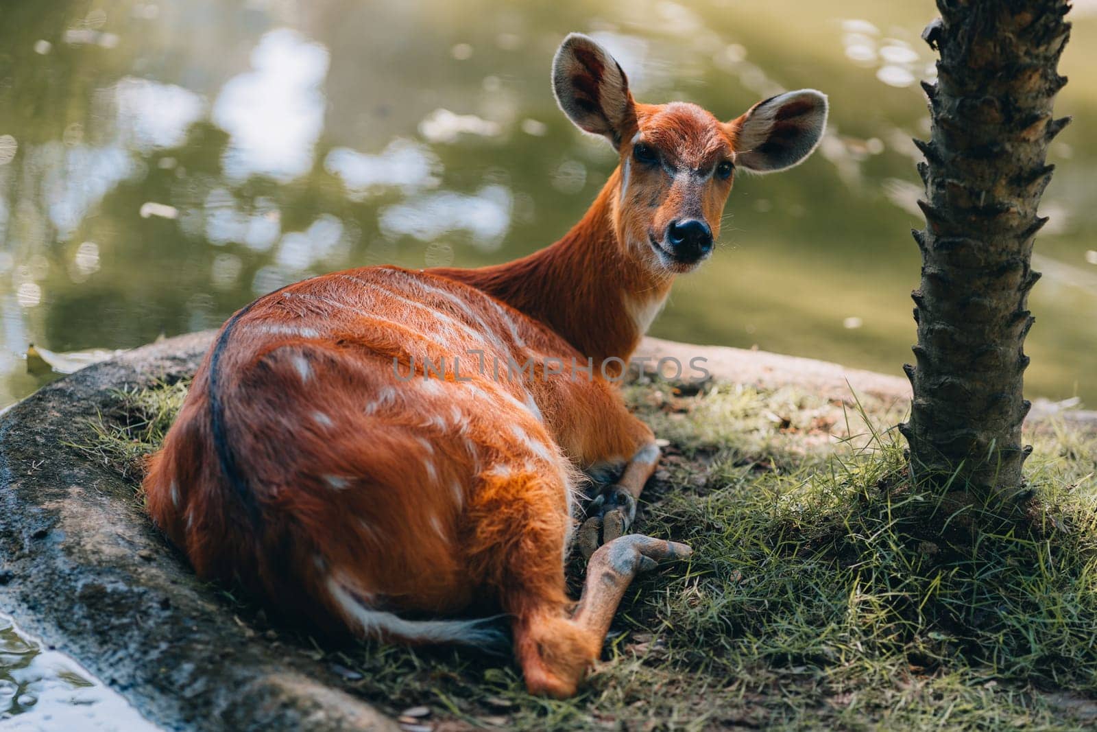
[[430,270],[459,280],[541,320],[598,368],[627,361],[670,290],[618,240],[613,205],[620,168],[562,239],[528,257],[478,269]]

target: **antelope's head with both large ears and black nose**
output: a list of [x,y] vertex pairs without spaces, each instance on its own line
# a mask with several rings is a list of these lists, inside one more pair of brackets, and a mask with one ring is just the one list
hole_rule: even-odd
[[826,97],[812,89],[758,102],[731,122],[686,102],[640,104],[617,60],[578,33],[556,52],[553,88],[576,126],[620,154],[618,239],[660,273],[688,272],[712,254],[737,170],[791,168],[826,126]]

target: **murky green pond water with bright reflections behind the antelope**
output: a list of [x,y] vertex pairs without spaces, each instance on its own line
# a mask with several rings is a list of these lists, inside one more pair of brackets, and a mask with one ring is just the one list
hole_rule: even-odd
[[[731,119],[781,89],[830,95],[818,153],[737,182],[720,249],[653,333],[897,374],[934,15],[930,0],[9,0],[0,406],[42,383],[30,342],[128,348],[313,273],[551,243],[615,162],[553,102],[550,60],[575,30],[644,101]],[[1097,0],[1074,15],[1027,391],[1095,406]]]

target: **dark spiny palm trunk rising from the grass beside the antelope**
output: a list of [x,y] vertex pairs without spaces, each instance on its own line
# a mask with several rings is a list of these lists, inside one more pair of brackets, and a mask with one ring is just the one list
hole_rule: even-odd
[[[1021,395],[1037,215],[1053,166],[1044,157],[1068,122],[1052,117],[1066,83],[1056,66],[1070,24],[1067,0],[938,0],[925,33],[939,47],[929,95],[931,139],[918,170],[928,202],[917,305],[911,420],[915,475],[984,497],[1019,494],[1029,402]],[[974,497],[974,496],[973,496]]]

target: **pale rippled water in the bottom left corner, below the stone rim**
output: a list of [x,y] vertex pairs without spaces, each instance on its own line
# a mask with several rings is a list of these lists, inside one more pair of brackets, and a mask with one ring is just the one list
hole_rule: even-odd
[[0,613],[0,729],[155,732],[125,699]]

